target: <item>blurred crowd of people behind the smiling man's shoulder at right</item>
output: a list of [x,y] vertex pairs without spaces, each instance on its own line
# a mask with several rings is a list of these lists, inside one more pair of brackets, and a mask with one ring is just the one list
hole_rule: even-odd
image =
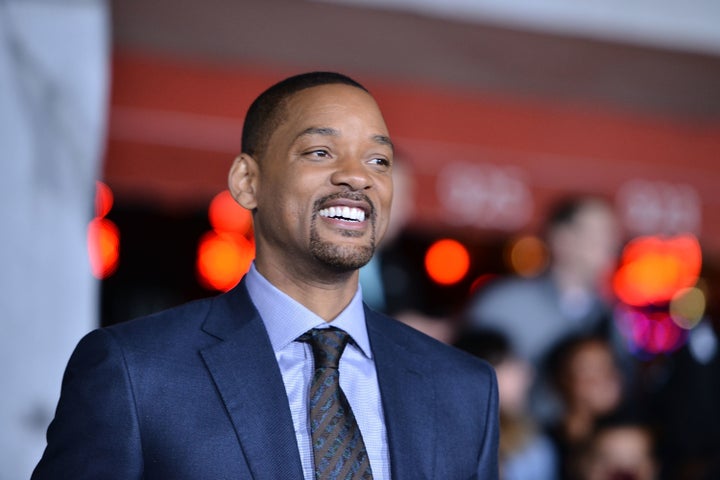
[[717,323],[642,351],[607,288],[623,242],[611,204],[567,198],[546,220],[542,273],[483,284],[458,319],[399,315],[495,367],[501,478],[720,478]]

